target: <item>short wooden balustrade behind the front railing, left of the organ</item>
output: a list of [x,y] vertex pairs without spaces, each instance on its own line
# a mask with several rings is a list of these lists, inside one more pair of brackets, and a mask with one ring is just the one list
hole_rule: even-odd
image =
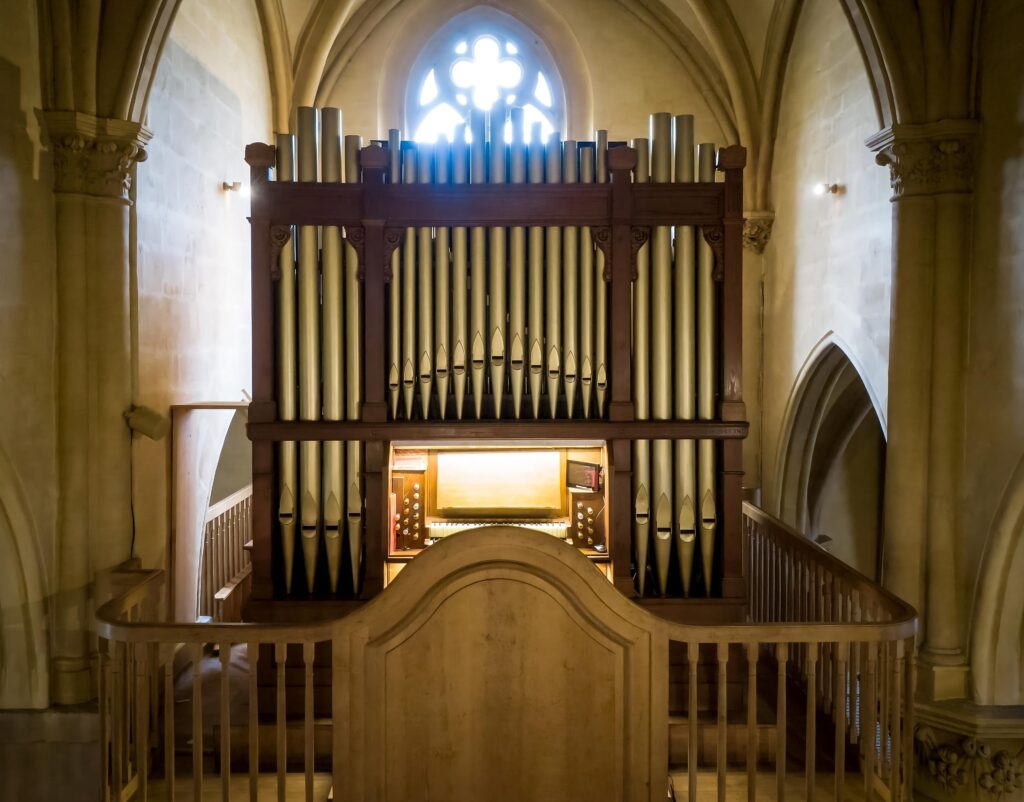
[[[252,582],[245,545],[252,538],[253,487],[249,484],[212,505],[203,523],[199,615],[214,621],[241,621],[236,607],[242,589]],[[226,605],[226,609],[225,609]]]

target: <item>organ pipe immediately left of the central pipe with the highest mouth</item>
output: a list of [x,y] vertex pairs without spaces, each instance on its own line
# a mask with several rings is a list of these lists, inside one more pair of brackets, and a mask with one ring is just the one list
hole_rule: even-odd
[[[481,112],[469,115],[469,180],[486,183],[486,125]],[[487,336],[487,229],[474,225],[469,230],[469,362],[473,382],[473,411],[477,419],[483,411]]]

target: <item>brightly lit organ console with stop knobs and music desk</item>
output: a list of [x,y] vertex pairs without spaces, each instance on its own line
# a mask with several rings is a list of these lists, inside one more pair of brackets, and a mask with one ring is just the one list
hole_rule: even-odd
[[608,573],[604,444],[395,445],[388,579],[460,532],[524,526],[575,546]]

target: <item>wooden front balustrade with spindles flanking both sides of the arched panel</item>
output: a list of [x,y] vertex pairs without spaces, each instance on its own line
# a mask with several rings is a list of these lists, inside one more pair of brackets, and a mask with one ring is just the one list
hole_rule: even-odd
[[[745,742],[748,799],[754,802],[759,780],[763,786],[766,779],[764,766],[758,764],[758,741],[764,728],[773,725],[774,788],[773,793],[760,788],[762,798],[781,800],[787,789],[794,795],[796,778],[787,777],[787,767],[799,765],[802,757],[800,785],[806,788],[806,798],[817,793],[821,799],[820,783],[825,778],[816,775],[821,757],[817,750],[820,743],[830,743],[831,799],[845,798],[854,770],[860,771],[866,799],[911,799],[914,611],[756,507],[744,507],[743,531],[753,590],[749,623],[696,626],[649,619],[655,639],[665,644],[652,655],[666,655],[670,641],[684,644],[686,655],[688,759],[685,780],[677,775],[676,798],[695,802],[698,774],[703,774],[700,782],[717,782],[718,799],[725,799],[727,774],[735,770],[727,765],[727,738],[731,732],[735,741],[738,730]],[[236,798],[244,796],[241,782],[251,800],[271,797],[272,792],[283,800],[289,788],[299,785],[305,799],[312,800],[316,783],[325,782],[314,776],[314,657],[318,661],[332,649],[339,653],[339,644],[351,637],[346,620],[301,626],[148,623],[157,617],[163,574],[140,576],[135,587],[97,613],[101,799],[175,799],[179,779],[191,786],[187,798],[203,799],[215,765],[206,759],[204,694],[213,694],[219,732],[213,730],[216,743],[211,746],[219,758],[216,783],[221,798],[229,799],[232,793]],[[243,713],[232,713],[231,707],[232,648],[238,646],[245,646],[249,661],[243,691],[248,708]],[[176,675],[175,655],[184,683]],[[259,661],[271,662],[269,675],[275,683],[272,697],[262,700]],[[204,668],[219,670],[215,682],[204,685]],[[286,669],[304,678],[301,698],[286,692]],[[334,665],[331,670],[337,695],[345,667]],[[187,684],[186,672],[191,674],[190,689],[182,687]],[[734,689],[737,676],[745,686],[739,702],[729,692],[730,681]],[[708,686],[717,724],[707,730],[717,738],[711,775],[698,771],[698,727],[708,723],[700,712],[701,705],[707,709],[707,700],[698,697]],[[759,693],[765,708],[766,686],[771,687],[767,697],[773,702],[767,707],[774,708],[774,721],[767,722],[764,713],[759,720],[758,710]],[[239,692],[233,688],[233,695]],[[185,701],[182,695],[190,703],[190,745],[179,754],[175,749],[179,724],[173,711],[175,702],[180,707]],[[669,693],[658,688],[651,699],[667,706]],[[242,720],[232,720],[232,715]],[[800,718],[803,726],[790,726]],[[293,754],[291,761],[293,767],[301,763],[301,776],[289,774],[289,721],[301,731],[301,754]],[[819,729],[822,721],[829,722],[830,733]],[[273,775],[260,773],[260,722],[266,728],[264,735],[273,740]],[[247,749],[237,752],[234,760],[232,724],[248,738]],[[806,734],[803,755],[787,749],[795,732]],[[859,750],[848,745],[858,745]],[[851,755],[853,762],[848,760]],[[264,767],[267,762],[264,757]],[[668,774],[667,757],[665,763]],[[245,767],[247,782],[239,778],[232,785],[232,764]],[[317,798],[323,791],[316,791]]]

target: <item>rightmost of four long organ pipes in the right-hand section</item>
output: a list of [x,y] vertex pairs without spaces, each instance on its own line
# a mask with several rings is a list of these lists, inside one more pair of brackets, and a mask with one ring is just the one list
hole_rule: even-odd
[[[701,142],[697,147],[697,178],[715,180],[715,145]],[[700,238],[697,249],[697,418],[715,417],[715,257],[711,247]],[[715,561],[715,538],[718,513],[715,496],[715,441],[698,445],[697,492],[700,494],[700,556],[703,562],[705,588],[712,591],[712,568]]]

